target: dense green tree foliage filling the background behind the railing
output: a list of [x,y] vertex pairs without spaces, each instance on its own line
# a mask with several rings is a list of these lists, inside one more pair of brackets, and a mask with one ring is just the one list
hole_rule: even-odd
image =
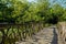
[[[65,9],[59,4],[50,7],[48,0],[37,0],[37,2],[26,2],[18,0],[1,0],[0,21],[8,23],[25,22],[48,22],[57,19],[65,20]],[[52,22],[52,23],[53,23]]]

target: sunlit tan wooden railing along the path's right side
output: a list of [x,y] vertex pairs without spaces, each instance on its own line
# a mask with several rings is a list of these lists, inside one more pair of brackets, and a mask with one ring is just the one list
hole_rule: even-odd
[[66,22],[58,22],[57,30],[58,30],[59,36],[63,38],[65,43],[66,42]]

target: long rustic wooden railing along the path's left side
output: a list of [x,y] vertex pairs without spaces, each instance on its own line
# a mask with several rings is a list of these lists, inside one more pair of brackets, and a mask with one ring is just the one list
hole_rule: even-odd
[[43,24],[25,23],[25,24],[3,24],[0,23],[1,38],[0,44],[15,44],[16,41],[25,41],[32,34],[38,32]]

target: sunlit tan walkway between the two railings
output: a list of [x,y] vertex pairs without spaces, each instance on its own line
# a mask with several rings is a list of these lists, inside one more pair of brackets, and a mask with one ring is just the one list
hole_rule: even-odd
[[56,26],[50,26],[33,35],[32,38],[16,44],[63,44],[63,41],[58,37]]

